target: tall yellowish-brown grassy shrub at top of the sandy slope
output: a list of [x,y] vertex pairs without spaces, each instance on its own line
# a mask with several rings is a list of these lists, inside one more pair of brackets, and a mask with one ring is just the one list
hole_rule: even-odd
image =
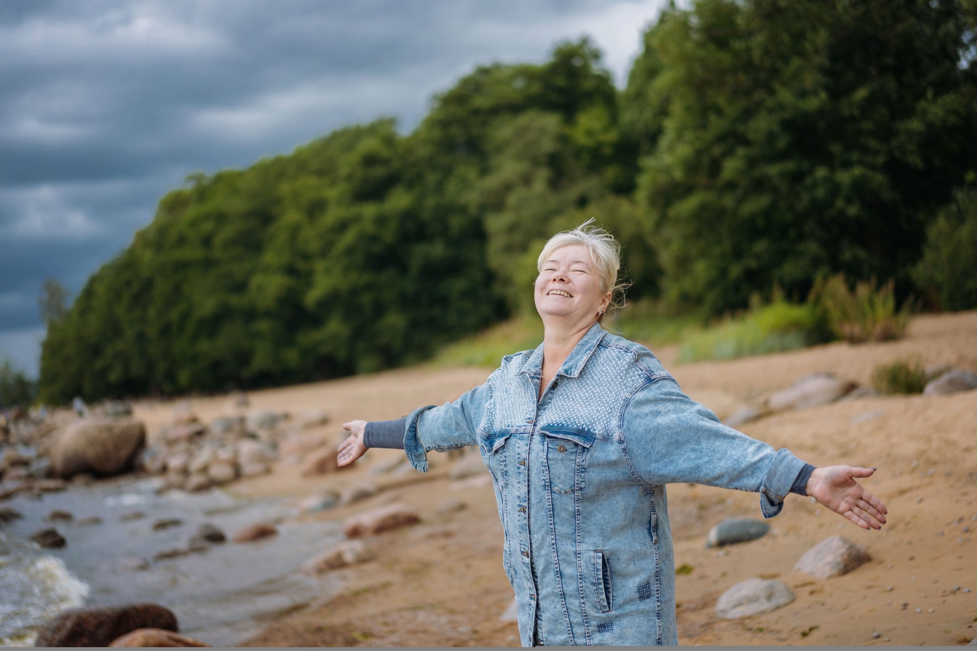
[[874,279],[858,282],[851,291],[838,274],[817,283],[812,298],[824,310],[834,335],[850,343],[898,339],[909,325],[911,302],[896,309],[892,281],[878,287]]

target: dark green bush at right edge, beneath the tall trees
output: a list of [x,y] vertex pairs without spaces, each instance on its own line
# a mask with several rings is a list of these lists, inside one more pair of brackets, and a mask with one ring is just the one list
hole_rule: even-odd
[[913,280],[940,309],[977,308],[977,188],[957,191],[929,226]]

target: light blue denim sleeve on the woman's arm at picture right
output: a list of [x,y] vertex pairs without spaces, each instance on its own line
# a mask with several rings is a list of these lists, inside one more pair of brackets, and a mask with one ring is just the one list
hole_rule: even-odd
[[631,396],[621,429],[624,454],[640,481],[756,492],[765,518],[781,512],[805,466],[786,449],[774,450],[722,424],[670,375],[652,377]]

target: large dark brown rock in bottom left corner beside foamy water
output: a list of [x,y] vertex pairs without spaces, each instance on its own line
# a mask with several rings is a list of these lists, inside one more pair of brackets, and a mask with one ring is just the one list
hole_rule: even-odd
[[73,608],[48,622],[34,646],[108,646],[136,629],[180,630],[170,609],[152,603]]

